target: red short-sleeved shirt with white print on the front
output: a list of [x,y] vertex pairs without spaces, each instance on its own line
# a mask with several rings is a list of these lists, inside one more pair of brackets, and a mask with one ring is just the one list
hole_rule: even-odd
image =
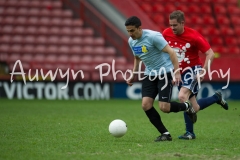
[[205,53],[210,49],[210,45],[196,30],[184,27],[182,34],[175,35],[171,28],[167,28],[163,31],[163,37],[176,52],[182,70],[186,67],[202,66],[198,53]]

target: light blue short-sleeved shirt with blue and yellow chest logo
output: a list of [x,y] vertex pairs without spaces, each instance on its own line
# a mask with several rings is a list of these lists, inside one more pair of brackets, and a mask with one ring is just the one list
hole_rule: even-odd
[[144,75],[163,75],[173,70],[173,64],[169,54],[162,52],[168,44],[160,32],[143,29],[142,36],[133,40],[131,37],[128,43],[134,56],[138,56],[145,65]]

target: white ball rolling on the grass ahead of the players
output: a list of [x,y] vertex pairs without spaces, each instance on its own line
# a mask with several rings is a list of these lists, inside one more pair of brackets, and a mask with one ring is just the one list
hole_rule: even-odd
[[114,137],[122,137],[127,132],[127,124],[121,119],[115,119],[109,124],[109,132]]

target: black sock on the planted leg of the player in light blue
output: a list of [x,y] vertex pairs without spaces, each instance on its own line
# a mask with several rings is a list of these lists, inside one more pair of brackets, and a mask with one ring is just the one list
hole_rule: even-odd
[[168,132],[168,130],[165,128],[164,124],[162,123],[159,113],[156,111],[154,107],[145,111],[145,113],[148,116],[150,122],[157,128],[157,130],[161,134]]

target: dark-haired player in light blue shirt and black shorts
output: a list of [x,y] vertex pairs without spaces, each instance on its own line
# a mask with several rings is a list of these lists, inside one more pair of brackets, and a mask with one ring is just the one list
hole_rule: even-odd
[[[160,114],[153,107],[154,99],[159,96],[159,107],[164,113],[185,111],[193,123],[197,116],[190,103],[171,102],[173,84],[179,85],[181,75],[176,53],[168,45],[162,34],[156,31],[142,29],[141,20],[132,16],[125,22],[126,30],[129,33],[129,46],[134,55],[133,73],[139,72],[139,64],[142,61],[145,65],[142,80],[142,108],[150,122],[160,132],[155,140],[171,141],[172,137],[164,126]],[[171,70],[175,71],[172,76]],[[137,74],[127,80],[129,86]]]

